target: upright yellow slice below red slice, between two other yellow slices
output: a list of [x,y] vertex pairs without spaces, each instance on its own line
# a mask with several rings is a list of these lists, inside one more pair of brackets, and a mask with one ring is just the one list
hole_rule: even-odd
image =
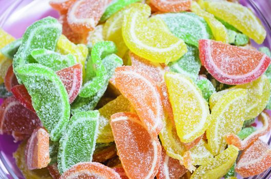
[[213,155],[218,155],[226,148],[227,143],[223,139],[225,135],[228,133],[237,135],[242,129],[246,101],[246,89],[234,89],[223,95],[212,108],[206,136]]

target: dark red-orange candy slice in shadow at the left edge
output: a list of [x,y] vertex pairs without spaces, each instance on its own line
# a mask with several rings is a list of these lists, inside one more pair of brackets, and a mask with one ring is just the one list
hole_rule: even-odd
[[30,136],[32,131],[41,126],[35,113],[25,108],[13,96],[4,100],[0,108],[0,133],[11,134],[13,131]]

